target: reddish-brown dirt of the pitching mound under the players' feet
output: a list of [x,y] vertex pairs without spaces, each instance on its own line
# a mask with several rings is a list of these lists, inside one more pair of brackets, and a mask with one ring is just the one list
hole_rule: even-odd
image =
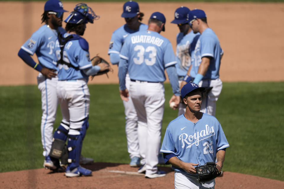
[[[64,173],[46,169],[0,173],[0,188],[94,188],[94,189],[172,189],[174,172],[170,167],[160,167],[167,172],[165,177],[146,179],[137,173],[138,168],[128,164],[93,163],[84,166],[93,171],[90,177],[67,178]],[[215,189],[270,189],[284,188],[284,182],[252,175],[224,172],[216,178]]]

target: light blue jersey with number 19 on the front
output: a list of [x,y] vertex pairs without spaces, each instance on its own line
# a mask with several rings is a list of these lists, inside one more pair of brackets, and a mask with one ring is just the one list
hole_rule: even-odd
[[184,35],[183,32],[178,33],[177,35],[177,64],[176,69],[178,76],[185,76],[191,65],[191,43],[193,39],[196,39],[195,36],[200,35],[200,33],[193,33],[193,30],[188,34]]

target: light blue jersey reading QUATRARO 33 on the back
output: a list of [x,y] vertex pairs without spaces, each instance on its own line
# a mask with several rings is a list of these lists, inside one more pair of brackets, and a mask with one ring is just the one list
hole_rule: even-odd
[[176,64],[176,58],[172,45],[167,38],[158,32],[139,31],[130,34],[120,51],[120,58],[127,61],[130,79],[164,82],[165,68]]

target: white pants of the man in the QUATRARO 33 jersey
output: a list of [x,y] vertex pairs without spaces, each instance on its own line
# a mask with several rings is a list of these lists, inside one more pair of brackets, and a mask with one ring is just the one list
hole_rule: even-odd
[[138,115],[140,155],[146,162],[146,174],[153,174],[158,170],[165,102],[164,84],[131,82],[129,93]]

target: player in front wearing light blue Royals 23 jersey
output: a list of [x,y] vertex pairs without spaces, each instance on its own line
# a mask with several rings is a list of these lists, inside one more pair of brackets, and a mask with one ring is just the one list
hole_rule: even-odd
[[214,188],[214,179],[199,183],[195,167],[217,160],[216,164],[222,169],[225,149],[229,147],[219,121],[200,112],[204,90],[194,82],[183,86],[181,97],[186,105],[185,113],[172,120],[166,129],[160,151],[164,153],[166,164],[172,164],[175,170],[175,188]]

